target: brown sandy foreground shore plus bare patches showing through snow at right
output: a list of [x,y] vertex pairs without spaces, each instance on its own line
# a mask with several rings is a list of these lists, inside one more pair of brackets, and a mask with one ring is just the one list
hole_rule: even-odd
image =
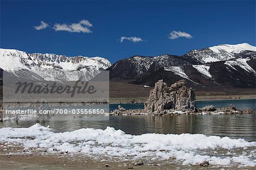
[[[24,138],[25,139],[25,138]],[[23,144],[10,145],[8,143],[0,143],[4,149],[0,151],[1,169],[254,169],[247,163],[232,163],[229,165],[209,163],[207,166],[201,165],[205,161],[197,160],[195,164],[183,164],[185,160],[176,159],[171,156],[168,159],[148,159],[148,157],[133,156],[103,156],[88,155],[73,152],[57,151],[51,153],[47,148],[26,148]],[[248,148],[246,148],[247,150]],[[254,146],[249,147],[249,151]],[[213,149],[214,151],[215,149]],[[235,152],[236,150],[236,152]],[[226,148],[217,150],[220,153],[229,152]],[[247,151],[247,152],[249,152]],[[193,152],[193,151],[191,151]],[[243,149],[233,148],[232,151],[239,156],[242,155]],[[189,153],[189,152],[188,152]]]

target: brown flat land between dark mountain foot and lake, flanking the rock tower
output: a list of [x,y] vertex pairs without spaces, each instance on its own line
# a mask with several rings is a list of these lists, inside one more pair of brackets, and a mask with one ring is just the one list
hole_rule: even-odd
[[[150,94],[150,88],[127,82],[109,82],[110,103],[143,103]],[[256,89],[196,89],[196,100],[256,99]]]

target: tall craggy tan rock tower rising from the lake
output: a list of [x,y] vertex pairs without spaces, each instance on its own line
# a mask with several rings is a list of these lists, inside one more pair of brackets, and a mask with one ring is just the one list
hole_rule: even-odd
[[195,109],[195,90],[185,84],[185,80],[180,80],[168,87],[163,80],[159,80],[144,103],[144,111],[162,114],[166,110]]

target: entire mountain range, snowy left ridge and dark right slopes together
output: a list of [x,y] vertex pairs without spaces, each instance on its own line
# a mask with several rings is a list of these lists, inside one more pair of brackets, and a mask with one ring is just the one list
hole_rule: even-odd
[[112,82],[154,86],[160,79],[168,85],[185,79],[199,89],[256,88],[255,63],[256,47],[247,43],[193,49],[183,56],[132,56],[113,65],[102,57],[0,49],[1,69],[17,77],[46,81],[86,81],[107,70]]

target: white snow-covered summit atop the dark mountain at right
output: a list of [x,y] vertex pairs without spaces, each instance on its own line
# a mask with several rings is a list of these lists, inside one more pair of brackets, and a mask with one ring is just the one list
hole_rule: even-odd
[[251,51],[255,52],[256,47],[247,43],[236,45],[221,44],[204,49],[194,49],[188,52],[186,56],[192,57],[201,63],[209,63],[238,58]]

